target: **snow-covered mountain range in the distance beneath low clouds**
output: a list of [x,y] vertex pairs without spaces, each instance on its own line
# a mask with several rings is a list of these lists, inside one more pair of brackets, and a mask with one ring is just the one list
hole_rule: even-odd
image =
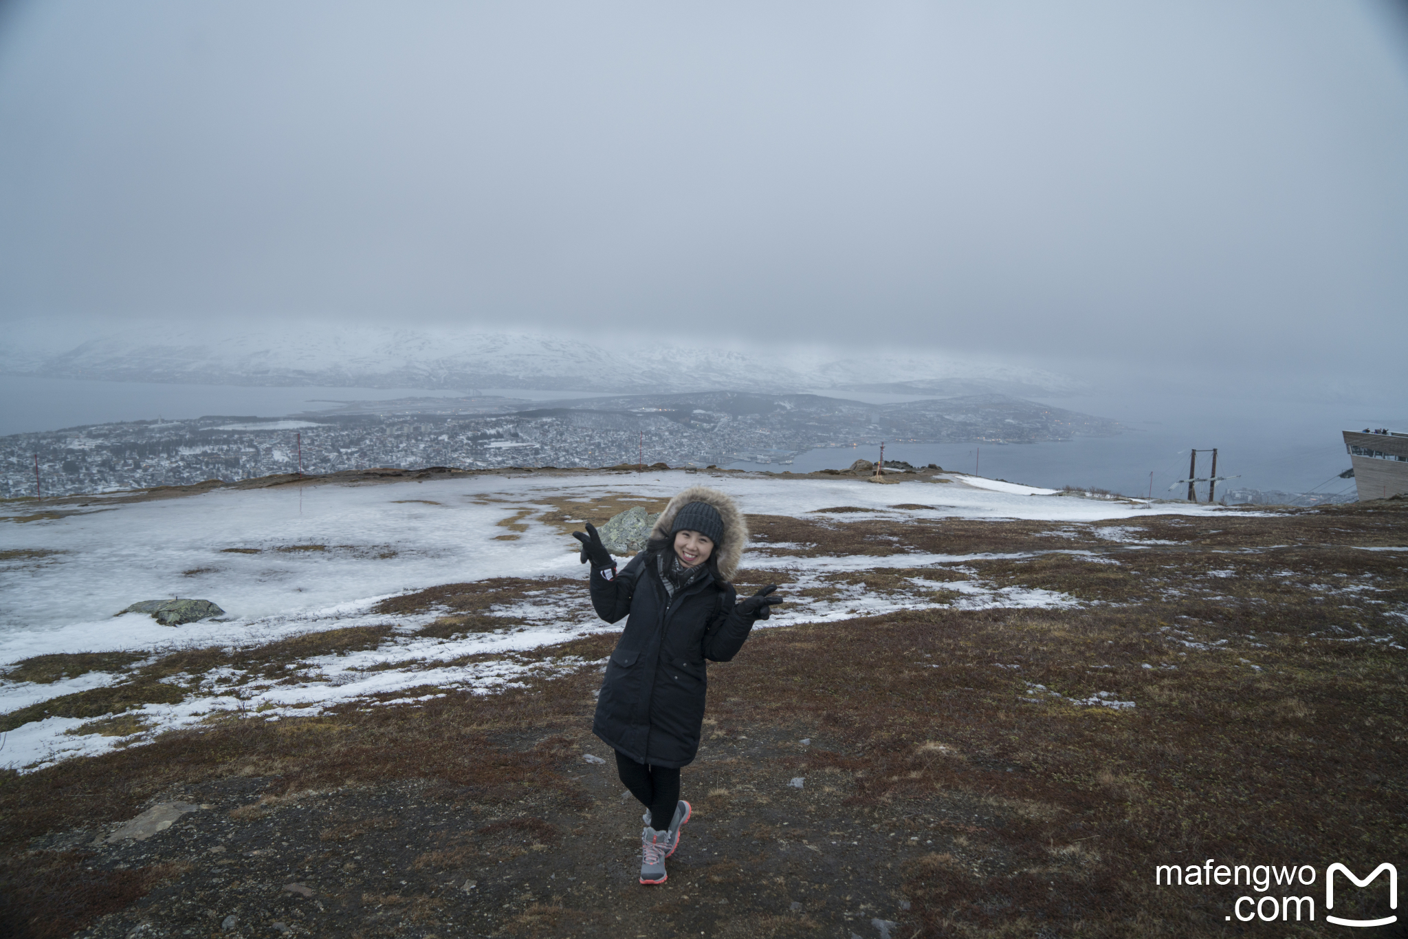
[[[31,334],[0,339],[0,372],[117,382],[536,389],[563,391],[1073,393],[1079,382],[1036,369],[925,355],[745,353],[719,348],[479,329],[289,325],[239,331],[142,328],[55,352]],[[903,387],[912,383],[912,390]]]

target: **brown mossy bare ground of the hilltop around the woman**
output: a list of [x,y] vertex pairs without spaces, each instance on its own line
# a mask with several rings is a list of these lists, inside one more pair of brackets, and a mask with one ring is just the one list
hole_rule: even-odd
[[[765,543],[818,553],[1024,553],[963,565],[1084,605],[756,631],[710,669],[704,748],[684,771],[696,815],[659,887],[636,883],[641,809],[590,736],[597,666],[415,707],[246,715],[7,774],[0,931],[845,939],[880,936],[879,921],[904,939],[1328,936],[1322,908],[1229,922],[1238,895],[1260,894],[1155,886],[1155,867],[1367,873],[1404,857],[1408,552],[1363,548],[1402,546],[1408,504],[1153,515],[1118,532],[842,517],[750,521]],[[953,574],[846,574],[884,590],[919,576]],[[382,612],[442,610],[452,634],[558,588],[449,584]],[[524,655],[600,662],[614,638]],[[252,667],[294,652],[220,655]],[[206,667],[184,655],[162,667]],[[158,802],[204,808],[96,843]],[[1336,895],[1333,912],[1385,915],[1383,894]]]

